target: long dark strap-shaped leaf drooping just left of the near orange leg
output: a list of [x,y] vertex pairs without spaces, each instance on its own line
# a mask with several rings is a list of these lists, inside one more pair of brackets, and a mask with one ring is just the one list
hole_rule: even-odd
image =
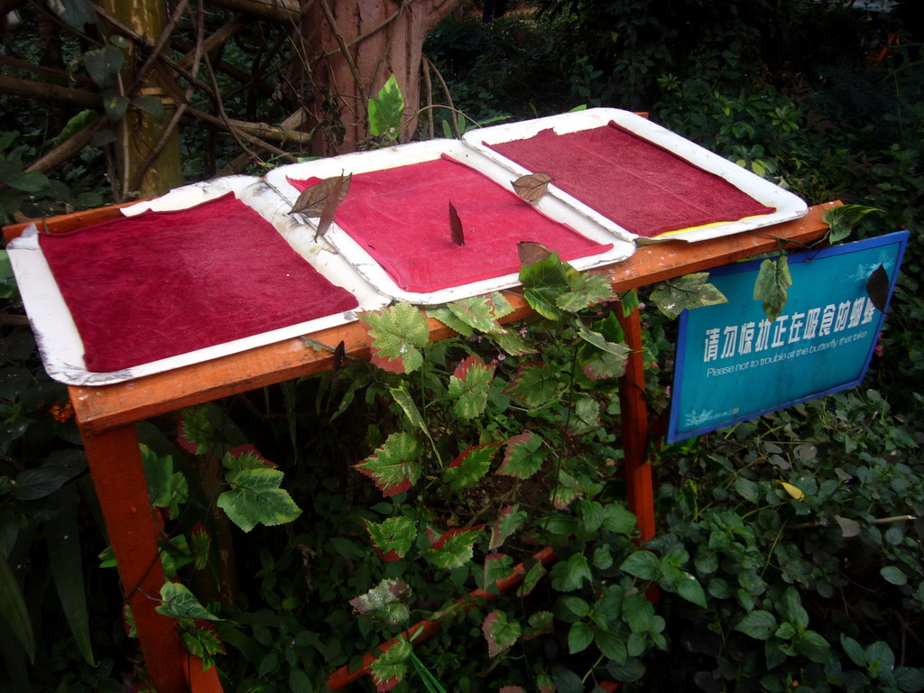
[[90,639],[87,594],[83,586],[77,490],[74,485],[71,484],[66,492],[59,494],[57,500],[59,501],[57,514],[45,521],[48,559],[70,632],[74,635],[74,641],[77,643],[80,654],[87,663],[95,666]]

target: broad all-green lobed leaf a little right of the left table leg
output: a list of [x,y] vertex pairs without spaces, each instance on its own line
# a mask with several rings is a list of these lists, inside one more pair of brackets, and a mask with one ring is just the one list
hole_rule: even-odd
[[301,510],[279,488],[285,475],[278,469],[241,469],[225,475],[230,489],[218,496],[218,507],[237,527],[249,532],[262,523],[274,527],[293,521]]

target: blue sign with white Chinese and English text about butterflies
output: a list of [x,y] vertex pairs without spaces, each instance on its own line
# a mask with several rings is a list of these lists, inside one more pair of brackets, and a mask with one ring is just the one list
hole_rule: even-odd
[[774,322],[753,299],[760,261],[712,272],[728,303],[680,316],[667,441],[859,384],[885,317],[867,283],[882,267],[892,297],[907,239],[900,231],[790,255],[793,285]]

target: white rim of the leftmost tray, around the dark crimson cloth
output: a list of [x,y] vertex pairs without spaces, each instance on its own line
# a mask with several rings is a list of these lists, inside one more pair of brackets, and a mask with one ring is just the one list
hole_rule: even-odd
[[224,344],[179,354],[168,359],[159,359],[123,371],[88,371],[83,360],[83,342],[70,310],[61,296],[55,277],[39,246],[38,231],[30,226],[26,232],[11,241],[7,249],[16,274],[19,293],[22,296],[35,341],[42,356],[45,371],[59,383],[67,385],[107,385],[124,383],[145,375],[171,371],[173,369],[201,363],[210,359],[236,354],[256,346],[274,344],[301,334],[310,334],[327,327],[353,322],[356,312],[376,310],[387,305],[389,300],[378,294],[339,255],[329,252],[322,244],[311,240],[313,233],[297,224],[285,213],[291,206],[281,200],[260,178],[251,176],[227,176],[196,183],[171,190],[164,197],[154,201],[140,202],[122,208],[127,216],[145,212],[180,210],[204,201],[220,197],[233,191],[237,197],[255,209],[257,213],[276,227],[289,245],[305,258],[328,280],[343,286],[359,301],[359,308],[335,313],[316,320],[299,322],[288,327],[254,334]]

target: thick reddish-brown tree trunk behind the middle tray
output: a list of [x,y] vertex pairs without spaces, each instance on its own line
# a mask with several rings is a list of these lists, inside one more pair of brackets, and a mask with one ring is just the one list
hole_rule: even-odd
[[[315,0],[301,18],[312,153],[353,152],[367,136],[367,103],[395,75],[405,100],[407,140],[417,126],[420,57],[427,34],[462,0]],[[298,82],[297,82],[298,83]]]

